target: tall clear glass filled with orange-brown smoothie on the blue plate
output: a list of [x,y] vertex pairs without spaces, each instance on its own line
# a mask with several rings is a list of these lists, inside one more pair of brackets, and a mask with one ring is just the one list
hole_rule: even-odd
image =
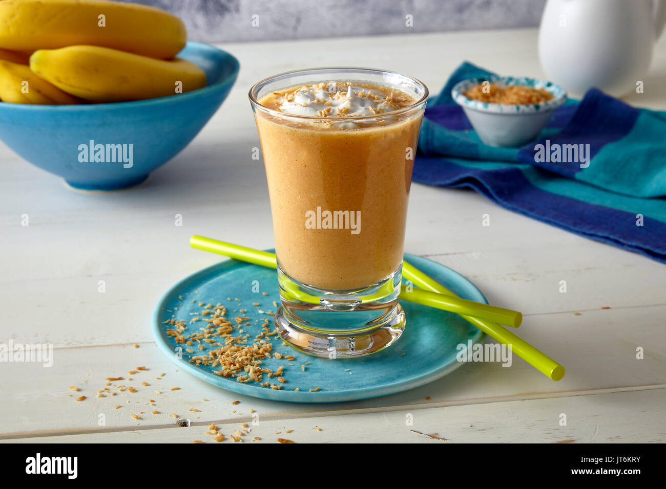
[[[390,112],[312,116],[271,108],[274,92],[319,82],[407,94]],[[407,204],[428,88],[368,68],[290,71],[249,93],[264,157],[284,341],[318,357],[359,357],[400,337]]]

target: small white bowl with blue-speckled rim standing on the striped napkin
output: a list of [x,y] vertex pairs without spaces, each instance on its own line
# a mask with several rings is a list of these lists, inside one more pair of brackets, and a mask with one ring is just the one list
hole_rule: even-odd
[[[544,88],[553,98],[540,104],[492,104],[467,98],[464,93],[488,81],[500,86],[523,85]],[[459,82],[451,90],[454,101],[462,106],[465,115],[484,144],[516,147],[536,138],[553,110],[564,104],[567,92],[559,85],[527,77],[482,77]]]

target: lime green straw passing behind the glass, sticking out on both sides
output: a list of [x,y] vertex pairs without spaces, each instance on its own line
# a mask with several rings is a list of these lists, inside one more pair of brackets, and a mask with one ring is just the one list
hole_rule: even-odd
[[[210,238],[204,238],[203,236],[192,236],[192,238],[190,238],[190,246],[204,251],[212,251],[213,253],[225,255],[240,261],[262,265],[264,267],[277,267],[275,254],[269,253],[268,251],[260,251],[258,249],[225,243]],[[318,297],[308,295],[298,288],[295,288],[294,284],[290,281],[281,281],[280,286],[282,287],[283,294],[287,295],[287,298],[319,304]],[[378,291],[374,295],[376,295],[377,298],[384,297],[386,296],[386,291]],[[510,309],[503,309],[494,305],[468,301],[467,299],[462,299],[451,293],[444,295],[441,293],[417,289],[415,287],[407,287],[406,285],[402,285],[400,289],[400,299],[417,304],[428,305],[430,307],[435,307],[436,309],[442,309],[460,315],[470,315],[488,321],[497,321],[498,323],[509,325],[511,327],[519,327],[523,319],[523,315],[518,311],[511,311]],[[364,300],[371,301],[373,300],[373,296],[368,296]]]

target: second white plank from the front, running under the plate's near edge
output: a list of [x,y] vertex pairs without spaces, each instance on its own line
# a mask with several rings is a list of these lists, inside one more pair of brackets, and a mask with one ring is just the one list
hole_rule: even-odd
[[[555,383],[535,371],[521,359],[513,357],[509,368],[500,363],[473,363],[454,373],[412,391],[355,403],[304,405],[272,403],[259,399],[238,397],[208,385],[176,368],[154,343],[142,343],[138,349],[131,345],[76,347],[55,349],[53,366],[44,368],[37,363],[6,363],[2,368],[0,391],[7,393],[3,402],[5,416],[0,418],[0,434],[20,434],[62,430],[96,430],[99,414],[107,416],[109,426],[159,426],[198,408],[202,419],[228,420],[247,414],[254,408],[262,414],[304,414],[317,411],[344,412],[370,408],[381,410],[392,406],[422,403],[488,403],[498,400],[532,399],[542,395],[575,395],[595,389],[631,389],[666,385],[666,344],[663,320],[666,306],[590,311],[573,317],[569,313],[530,317],[529,325],[521,327],[521,335],[530,343],[565,365],[567,375]],[[636,348],[643,347],[645,359],[636,359]],[[408,359],[406,359],[408,365]],[[149,371],[133,375],[132,385],[137,393],[127,391],[114,397],[97,399],[98,389],[105,387],[107,377],[129,377],[128,371],[146,366]],[[159,374],[167,375],[161,381]],[[287,376],[288,377],[288,376]],[[141,386],[147,381],[150,386]],[[68,387],[77,385],[80,393]],[[180,387],[178,391],[170,391]],[[163,394],[156,395],[155,390]],[[69,395],[72,394],[72,397]],[[75,402],[78,395],[88,399]],[[430,401],[426,398],[430,397]],[[143,410],[151,399],[160,416],[143,416],[141,422],[130,418],[131,413]],[[202,401],[208,399],[208,401]],[[230,403],[242,400],[240,407]],[[129,403],[128,403],[129,401]],[[113,407],[121,404],[122,408]],[[166,421],[165,421],[166,420]]]

